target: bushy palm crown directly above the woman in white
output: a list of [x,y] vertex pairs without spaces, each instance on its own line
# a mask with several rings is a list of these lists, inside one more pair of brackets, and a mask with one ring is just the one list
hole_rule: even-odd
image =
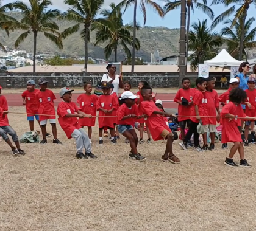
[[[105,31],[102,30],[102,26],[97,28],[98,32],[96,33],[96,43],[94,46],[108,41],[104,49],[105,57],[108,59],[112,55],[112,52],[114,52],[115,62],[117,62],[117,49],[119,45],[123,47],[127,57],[131,57],[130,49],[127,47],[127,44],[132,46],[133,38],[130,33],[133,31],[133,26],[123,24],[123,13],[120,7],[116,7],[115,3],[110,4],[110,9],[111,10],[105,9],[101,12],[101,15],[103,15],[109,23]],[[138,30],[139,27],[137,26],[136,29]],[[140,49],[140,41],[137,38],[135,49]]]

